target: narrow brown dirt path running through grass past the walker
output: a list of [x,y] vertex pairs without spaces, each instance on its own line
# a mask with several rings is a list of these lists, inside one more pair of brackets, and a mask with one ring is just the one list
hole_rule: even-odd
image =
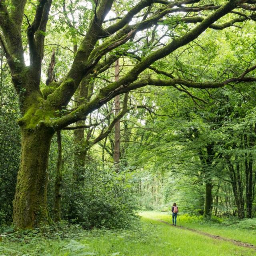
[[[159,219],[154,219],[154,218],[151,218],[151,219],[152,220],[158,220],[158,221],[160,221],[162,223],[165,223],[165,224],[167,224],[169,226],[172,226],[172,224],[170,224],[169,222],[166,222],[164,220],[159,220]],[[237,246],[242,246],[242,247],[246,247],[246,248],[252,248],[252,249],[256,250],[256,246],[254,246],[253,244],[248,244],[248,243],[244,243],[244,242],[233,240],[233,239],[229,239],[229,238],[224,238],[222,236],[215,236],[215,235],[212,235],[212,234],[209,234],[209,233],[206,233],[206,232],[202,232],[200,230],[192,229],[192,228],[186,228],[186,227],[180,227],[180,226],[172,226],[172,227],[173,228],[182,228],[182,229],[185,229],[185,230],[189,230],[189,231],[195,232],[197,234],[208,236],[208,237],[216,239],[216,240],[231,242],[231,243],[233,243],[233,244],[235,244]]]

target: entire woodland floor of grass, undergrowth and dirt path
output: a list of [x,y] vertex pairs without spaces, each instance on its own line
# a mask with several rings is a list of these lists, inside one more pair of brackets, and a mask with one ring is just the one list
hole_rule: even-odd
[[191,222],[188,216],[180,216],[181,227],[179,222],[175,227],[168,213],[141,216],[140,225],[132,230],[80,230],[65,237],[60,232],[52,237],[2,236],[0,256],[256,256],[253,230]]

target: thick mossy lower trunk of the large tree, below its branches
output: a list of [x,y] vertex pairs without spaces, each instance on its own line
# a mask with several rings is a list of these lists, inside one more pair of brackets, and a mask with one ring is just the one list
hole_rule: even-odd
[[47,204],[48,158],[53,130],[40,128],[22,131],[22,150],[13,223],[18,228],[33,228],[51,221]]

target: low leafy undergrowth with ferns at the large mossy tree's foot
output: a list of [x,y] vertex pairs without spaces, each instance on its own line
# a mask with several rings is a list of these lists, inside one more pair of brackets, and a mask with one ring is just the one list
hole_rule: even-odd
[[96,255],[90,244],[83,241],[101,237],[136,239],[142,242],[146,236],[138,221],[132,223],[130,229],[123,230],[107,228],[84,230],[82,226],[66,221],[41,226],[34,230],[14,230],[12,226],[2,226],[0,227],[0,256]]

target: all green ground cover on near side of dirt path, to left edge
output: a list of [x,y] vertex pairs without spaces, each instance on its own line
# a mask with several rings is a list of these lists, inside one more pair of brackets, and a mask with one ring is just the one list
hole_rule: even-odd
[[[133,230],[92,230],[79,231],[77,238],[55,239],[32,236],[3,238],[0,242],[0,255],[8,256],[252,256],[256,251],[235,246],[175,228],[151,218],[169,220],[170,216],[157,212],[144,212],[141,224]],[[4,251],[1,246],[8,248]],[[15,250],[15,251],[11,251]]]

